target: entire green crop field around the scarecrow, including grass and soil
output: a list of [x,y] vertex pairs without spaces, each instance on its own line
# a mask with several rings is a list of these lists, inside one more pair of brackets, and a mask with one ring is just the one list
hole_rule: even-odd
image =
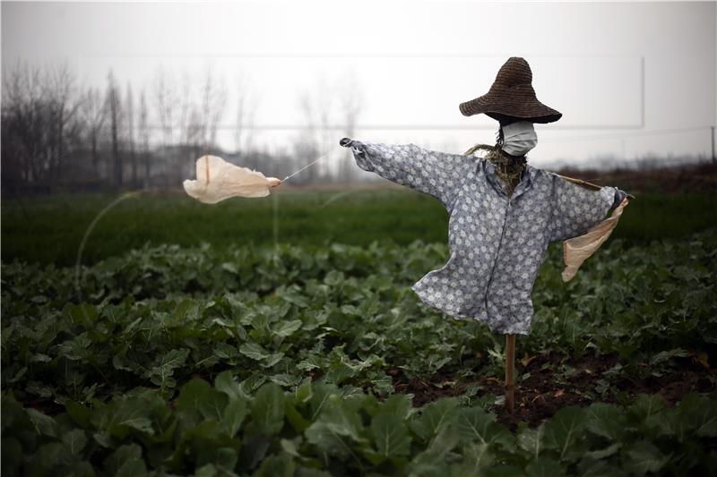
[[715,475],[717,208],[645,192],[516,340],[420,302],[405,190],[5,200],[4,475]]

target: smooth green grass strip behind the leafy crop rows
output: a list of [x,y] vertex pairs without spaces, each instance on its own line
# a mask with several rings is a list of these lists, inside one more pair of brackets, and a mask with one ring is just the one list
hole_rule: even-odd
[[[82,194],[4,200],[2,260],[73,264],[92,221],[119,195]],[[614,237],[644,242],[680,237],[717,223],[709,193],[644,193],[626,209]],[[408,189],[345,192],[280,191],[262,199],[216,205],[186,195],[139,194],[99,218],[82,252],[83,263],[144,243],[256,245],[292,243],[445,243],[448,214],[437,200]]]

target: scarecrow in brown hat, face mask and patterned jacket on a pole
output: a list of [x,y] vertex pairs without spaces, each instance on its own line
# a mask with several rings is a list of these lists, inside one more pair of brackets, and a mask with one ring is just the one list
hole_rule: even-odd
[[[440,200],[450,214],[450,257],[411,289],[454,319],[478,319],[505,334],[505,405],[514,409],[515,335],[529,335],[531,290],[551,242],[565,241],[565,281],[609,237],[627,205],[616,187],[553,174],[528,164],[534,123],[562,114],[531,85],[530,65],[511,57],[488,93],[460,105],[500,124],[495,145],[460,154],[343,138],[359,167]],[[478,152],[483,152],[482,157]],[[609,218],[604,219],[612,209]]]

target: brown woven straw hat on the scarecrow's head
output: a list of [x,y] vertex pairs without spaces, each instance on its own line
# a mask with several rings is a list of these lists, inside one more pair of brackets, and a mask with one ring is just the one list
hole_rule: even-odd
[[532,89],[531,66],[520,56],[511,56],[500,67],[488,93],[461,103],[466,116],[485,113],[494,119],[512,116],[531,123],[553,123],[561,113],[542,104]]

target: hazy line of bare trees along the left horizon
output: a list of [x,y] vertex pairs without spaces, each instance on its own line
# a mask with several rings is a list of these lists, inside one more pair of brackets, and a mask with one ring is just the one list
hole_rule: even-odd
[[[196,80],[196,79],[195,79]],[[135,91],[110,70],[104,88],[81,85],[68,63],[14,64],[3,73],[2,187],[5,192],[174,188],[193,177],[194,160],[211,152],[243,166],[289,174],[324,152],[342,124],[352,135],[361,110],[358,84],[342,81],[335,95],[321,87],[299,95],[309,124],[289,149],[268,153],[253,141],[257,103],[246,78],[231,95],[235,149],[218,146],[229,110],[223,77],[206,69],[198,81],[157,68],[151,84]],[[345,126],[344,126],[345,124]],[[349,160],[311,167],[295,183],[351,180]]]

